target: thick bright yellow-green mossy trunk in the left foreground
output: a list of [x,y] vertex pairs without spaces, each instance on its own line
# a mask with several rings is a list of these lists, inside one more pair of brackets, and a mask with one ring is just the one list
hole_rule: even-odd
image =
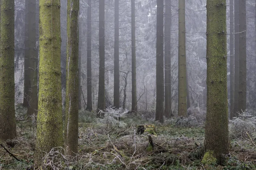
[[60,0],[39,2],[37,165],[53,147],[63,147],[60,6]]

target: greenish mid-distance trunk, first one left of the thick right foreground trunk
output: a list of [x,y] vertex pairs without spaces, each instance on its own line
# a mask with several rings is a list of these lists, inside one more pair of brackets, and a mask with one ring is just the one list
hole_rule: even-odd
[[187,116],[185,0],[179,0],[178,116]]

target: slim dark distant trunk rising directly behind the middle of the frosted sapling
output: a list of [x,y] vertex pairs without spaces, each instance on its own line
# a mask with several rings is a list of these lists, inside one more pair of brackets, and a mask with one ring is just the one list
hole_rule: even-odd
[[119,0],[115,0],[114,107],[120,107],[119,90]]

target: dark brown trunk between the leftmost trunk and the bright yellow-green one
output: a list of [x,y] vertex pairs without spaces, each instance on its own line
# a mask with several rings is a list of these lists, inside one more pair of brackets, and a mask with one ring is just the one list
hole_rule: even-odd
[[23,106],[31,116],[38,110],[38,50],[36,47],[35,0],[26,0],[25,50],[24,50],[24,98]]

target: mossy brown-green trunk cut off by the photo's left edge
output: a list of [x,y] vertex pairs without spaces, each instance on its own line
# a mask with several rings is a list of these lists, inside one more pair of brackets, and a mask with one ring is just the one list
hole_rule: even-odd
[[0,0],[0,140],[16,136],[14,0]]

